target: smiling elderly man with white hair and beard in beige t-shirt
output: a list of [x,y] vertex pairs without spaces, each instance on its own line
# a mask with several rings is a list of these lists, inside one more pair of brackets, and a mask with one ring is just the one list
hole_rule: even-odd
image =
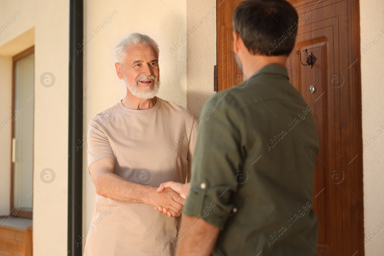
[[[88,170],[96,209],[84,255],[174,255],[184,199],[163,182],[187,181],[197,119],[184,107],[156,97],[159,47],[130,33],[114,50],[127,94],[89,123]],[[177,146],[175,146],[177,142]],[[164,208],[163,215],[154,208]]]

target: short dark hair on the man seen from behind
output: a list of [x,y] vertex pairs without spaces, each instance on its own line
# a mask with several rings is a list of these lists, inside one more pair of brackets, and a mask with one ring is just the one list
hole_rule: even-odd
[[286,0],[247,0],[233,12],[233,30],[253,55],[289,55],[297,27],[297,12]]

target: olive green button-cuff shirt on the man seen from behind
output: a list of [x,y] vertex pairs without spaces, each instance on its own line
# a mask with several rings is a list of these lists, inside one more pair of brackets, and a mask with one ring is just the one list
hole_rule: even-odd
[[221,230],[215,256],[316,255],[312,112],[275,64],[212,96],[200,115],[184,206],[196,218],[180,234],[204,219]]

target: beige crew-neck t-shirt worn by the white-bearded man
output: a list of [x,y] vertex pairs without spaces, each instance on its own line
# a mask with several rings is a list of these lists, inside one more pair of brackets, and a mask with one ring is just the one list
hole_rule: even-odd
[[[89,123],[88,167],[111,157],[114,173],[132,182],[184,183],[198,124],[192,112],[159,97],[146,110],[127,109],[119,101]],[[180,217],[168,218],[152,205],[96,195],[84,255],[171,256],[179,223]]]

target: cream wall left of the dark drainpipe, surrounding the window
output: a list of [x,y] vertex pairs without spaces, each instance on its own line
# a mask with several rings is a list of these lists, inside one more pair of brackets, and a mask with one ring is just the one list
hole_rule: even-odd
[[[35,124],[34,124],[34,156],[33,156],[33,254],[39,256],[65,255],[67,251],[67,204],[68,204],[68,21],[69,5],[66,1],[21,0],[0,1],[0,26],[17,13],[22,14],[0,35],[0,47],[18,36],[35,28]],[[31,33],[30,33],[31,34]],[[31,35],[27,35],[28,42]],[[23,42],[10,45],[8,50],[2,48],[1,56],[13,56],[29,46]],[[2,58],[3,59],[3,58]],[[2,61],[2,63],[4,63]],[[12,70],[9,67],[2,70]],[[12,64],[11,64],[12,67]],[[40,84],[40,76],[51,72],[56,83],[51,88]],[[8,92],[8,76],[1,76],[1,91]],[[6,95],[4,95],[6,96]],[[2,95],[3,97],[3,95]],[[3,103],[2,103],[3,104]],[[8,105],[7,112],[11,109]],[[2,109],[3,110],[3,109]],[[9,113],[10,114],[10,113]],[[2,116],[3,117],[3,116]],[[9,141],[8,143],[9,144]],[[2,147],[3,152],[7,152]],[[5,154],[9,154],[5,153]],[[6,155],[5,155],[6,156]],[[9,157],[9,156],[8,156]],[[8,158],[9,161],[9,158]],[[5,170],[6,165],[2,166]],[[9,167],[8,167],[9,168]],[[40,172],[44,168],[52,168],[56,174],[53,183],[41,181]],[[8,170],[9,172],[10,170]],[[2,178],[7,179],[7,176]],[[3,196],[3,195],[2,195]],[[7,199],[6,199],[7,200]],[[9,200],[9,199],[8,199]],[[2,200],[3,201],[3,198]]]

